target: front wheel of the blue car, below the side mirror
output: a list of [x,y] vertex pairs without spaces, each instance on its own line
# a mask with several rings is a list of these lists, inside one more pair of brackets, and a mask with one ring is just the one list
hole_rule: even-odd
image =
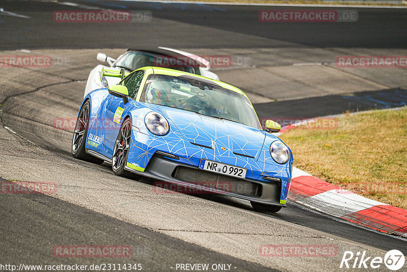
[[131,173],[124,169],[127,164],[131,138],[131,120],[124,120],[120,128],[118,138],[114,143],[113,157],[111,159],[111,169],[114,174],[121,177],[130,177]]

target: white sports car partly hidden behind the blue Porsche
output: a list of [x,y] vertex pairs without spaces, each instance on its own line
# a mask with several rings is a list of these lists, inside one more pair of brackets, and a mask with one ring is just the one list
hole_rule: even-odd
[[[91,71],[88,81],[86,82],[83,97],[93,90],[116,85],[125,75],[145,66],[171,68],[219,80],[217,74],[209,71],[211,66],[210,62],[206,59],[188,52],[167,47],[128,49],[127,52],[120,55],[117,59],[107,57],[104,53],[98,53],[97,60],[107,62],[108,66],[100,64]],[[101,76],[102,69],[121,71],[122,78]]]

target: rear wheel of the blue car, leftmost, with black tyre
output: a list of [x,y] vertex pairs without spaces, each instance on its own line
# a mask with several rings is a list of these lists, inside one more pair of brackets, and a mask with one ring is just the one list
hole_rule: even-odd
[[89,115],[91,113],[91,103],[87,100],[80,109],[76,120],[75,131],[72,137],[72,156],[77,159],[102,164],[103,159],[95,158],[85,151],[86,135],[88,135]]

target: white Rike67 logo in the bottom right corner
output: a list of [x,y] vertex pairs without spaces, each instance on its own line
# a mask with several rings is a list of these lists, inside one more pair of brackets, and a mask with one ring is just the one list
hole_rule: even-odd
[[396,271],[404,265],[404,255],[398,250],[388,251],[384,258],[371,257],[366,251],[357,252],[345,251],[339,268],[379,268],[383,264],[390,270]]

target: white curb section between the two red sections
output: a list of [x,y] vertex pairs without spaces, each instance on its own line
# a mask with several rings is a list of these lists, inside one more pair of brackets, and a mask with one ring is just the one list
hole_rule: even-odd
[[371,208],[376,205],[388,205],[364,198],[343,189],[330,190],[299,201],[300,203],[333,216],[344,215]]

